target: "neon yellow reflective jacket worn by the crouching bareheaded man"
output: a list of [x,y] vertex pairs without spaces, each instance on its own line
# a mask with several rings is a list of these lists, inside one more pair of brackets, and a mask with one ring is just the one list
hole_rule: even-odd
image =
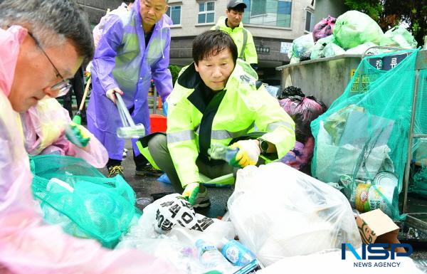
[[[226,87],[208,105],[202,99],[201,78],[194,63],[183,70],[169,95],[167,117],[167,146],[182,186],[201,181],[196,159],[204,144],[199,137],[202,133],[206,136],[210,115],[214,115],[207,129],[210,144],[228,145],[233,138],[255,132],[256,128],[257,132],[266,132],[263,139],[275,144],[278,159],[294,147],[295,123],[263,85],[257,88],[255,70],[248,63],[237,61]],[[220,95],[223,98],[218,99]],[[210,108],[214,101],[218,102],[216,110]]]

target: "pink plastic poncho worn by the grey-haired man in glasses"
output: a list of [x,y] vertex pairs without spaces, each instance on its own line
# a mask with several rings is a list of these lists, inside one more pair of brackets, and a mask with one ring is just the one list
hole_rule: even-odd
[[7,98],[25,36],[19,26],[0,28],[0,273],[176,273],[152,255],[108,251],[43,223],[31,195],[19,115]]

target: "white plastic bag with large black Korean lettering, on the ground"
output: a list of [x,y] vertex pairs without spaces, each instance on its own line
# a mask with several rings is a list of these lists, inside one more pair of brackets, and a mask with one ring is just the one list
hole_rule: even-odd
[[[203,239],[218,245],[222,238],[233,239],[236,232],[231,222],[196,214],[179,196],[169,194],[145,207],[116,248],[145,251],[169,261],[182,273],[206,273],[209,269],[200,263],[194,243]],[[230,273],[237,269],[231,268]]]

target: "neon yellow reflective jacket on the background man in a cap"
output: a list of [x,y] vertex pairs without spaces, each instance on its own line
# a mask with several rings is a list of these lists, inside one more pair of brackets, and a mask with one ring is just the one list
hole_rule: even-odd
[[[229,28],[226,25],[226,16],[220,17],[218,23],[211,28],[220,29],[228,33],[231,38],[233,38],[234,43],[237,46],[238,58],[246,60],[250,64],[258,64],[258,55],[256,54],[255,43],[253,43],[252,33],[246,28],[243,28],[243,23],[241,22],[236,28]],[[244,50],[242,52],[244,46]]]

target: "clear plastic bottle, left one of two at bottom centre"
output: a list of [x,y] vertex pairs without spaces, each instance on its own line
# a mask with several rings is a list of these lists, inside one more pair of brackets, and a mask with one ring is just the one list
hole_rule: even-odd
[[221,252],[216,249],[213,243],[206,242],[202,239],[196,241],[196,247],[199,251],[199,260],[209,270],[228,270],[233,268],[233,265],[228,263]]

